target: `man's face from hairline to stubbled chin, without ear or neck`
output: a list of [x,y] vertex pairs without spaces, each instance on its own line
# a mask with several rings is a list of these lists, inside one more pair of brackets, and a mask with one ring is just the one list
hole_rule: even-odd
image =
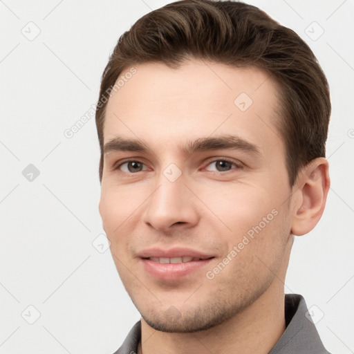
[[277,86],[211,62],[135,68],[106,110],[103,227],[150,326],[210,328],[285,274],[294,208]]

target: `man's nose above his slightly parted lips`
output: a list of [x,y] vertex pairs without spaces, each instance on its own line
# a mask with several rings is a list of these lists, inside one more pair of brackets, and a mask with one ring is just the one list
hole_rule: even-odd
[[198,223],[196,198],[180,176],[171,182],[165,176],[158,180],[158,188],[147,201],[143,218],[154,229],[168,233],[176,228],[189,228]]

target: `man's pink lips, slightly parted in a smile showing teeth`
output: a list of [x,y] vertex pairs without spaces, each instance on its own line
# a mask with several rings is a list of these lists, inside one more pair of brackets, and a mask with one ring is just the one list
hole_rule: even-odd
[[193,276],[212,261],[214,255],[189,248],[150,248],[138,254],[142,268],[155,279],[175,281]]

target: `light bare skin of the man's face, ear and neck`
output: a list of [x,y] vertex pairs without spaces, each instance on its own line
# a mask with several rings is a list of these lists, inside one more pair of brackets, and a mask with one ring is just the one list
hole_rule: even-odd
[[[109,99],[104,143],[119,136],[144,142],[150,151],[105,153],[100,214],[122,283],[142,315],[139,351],[268,353],[285,330],[283,281],[293,237],[312,230],[322,216],[328,162],[313,160],[289,185],[276,125],[281,95],[259,68],[195,59],[177,69],[134,67],[136,74]],[[246,111],[234,104],[242,92],[253,101]],[[259,153],[183,149],[221,136],[246,140]],[[127,158],[140,169],[129,171]],[[220,170],[225,158],[231,163],[221,162]],[[181,172],[174,182],[164,175],[171,163]],[[277,216],[208,279],[206,272],[272,210]],[[177,245],[214,259],[168,281],[142,267],[142,250]]]

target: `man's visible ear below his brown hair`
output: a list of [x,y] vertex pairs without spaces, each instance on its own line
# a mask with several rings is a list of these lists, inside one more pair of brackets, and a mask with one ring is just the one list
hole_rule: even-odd
[[293,187],[295,209],[292,216],[292,234],[307,234],[317,225],[324,212],[329,186],[326,158],[315,158],[301,170]]

